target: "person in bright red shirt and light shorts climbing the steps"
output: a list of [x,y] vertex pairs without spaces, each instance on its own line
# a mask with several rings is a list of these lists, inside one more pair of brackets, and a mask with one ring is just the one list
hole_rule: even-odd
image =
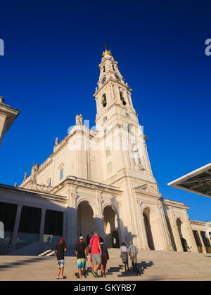
[[94,270],[92,270],[92,274],[94,277],[98,277],[97,271],[98,268],[101,265],[101,244],[100,244],[100,239],[98,237],[98,232],[94,232],[94,236],[91,237],[90,240],[90,245],[91,245],[91,259],[94,263]]

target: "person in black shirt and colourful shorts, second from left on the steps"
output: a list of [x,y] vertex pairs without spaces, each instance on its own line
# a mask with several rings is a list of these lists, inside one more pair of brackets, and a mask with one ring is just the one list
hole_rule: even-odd
[[79,277],[82,278],[82,268],[84,277],[86,276],[87,247],[84,243],[84,237],[79,237],[79,242],[75,245],[75,255],[77,256],[77,268]]

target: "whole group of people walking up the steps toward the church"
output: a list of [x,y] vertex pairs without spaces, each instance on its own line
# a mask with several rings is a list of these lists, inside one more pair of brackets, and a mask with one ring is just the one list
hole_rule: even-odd
[[[64,252],[67,250],[65,240],[63,238],[60,239],[60,242],[56,245],[56,249],[54,250],[54,255],[57,258],[58,263],[58,274],[57,279],[63,278],[63,270],[64,270]],[[124,263],[125,272],[129,271],[128,265],[128,256],[130,256],[132,261],[132,266],[134,271],[138,272],[136,268],[137,258],[136,255],[138,251],[134,244],[130,242],[129,248],[122,243],[120,247],[120,257],[122,258],[122,263]],[[87,235],[87,244],[84,242],[84,237],[80,235],[79,242],[75,245],[75,255],[77,256],[77,268],[79,272],[79,277],[82,278],[82,274],[84,277],[86,276],[86,263],[88,261],[88,256],[90,255],[91,261],[91,273],[94,277],[98,277],[98,269],[101,270],[101,277],[106,277],[107,273],[107,261],[109,259],[107,245],[104,242],[102,237],[98,237],[98,232],[94,232],[93,237],[89,238]]]

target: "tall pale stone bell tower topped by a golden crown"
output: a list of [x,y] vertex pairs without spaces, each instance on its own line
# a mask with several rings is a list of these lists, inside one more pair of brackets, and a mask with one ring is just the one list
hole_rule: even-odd
[[131,92],[118,63],[106,46],[98,65],[100,75],[94,93],[96,99],[96,132],[101,146],[102,181],[115,185],[122,177],[143,179],[155,183],[146,150],[147,136],[143,134],[138,115],[132,104]]

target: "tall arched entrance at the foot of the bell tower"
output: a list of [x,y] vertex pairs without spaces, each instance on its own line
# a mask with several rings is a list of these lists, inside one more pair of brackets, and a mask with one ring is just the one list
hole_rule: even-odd
[[150,207],[143,210],[144,223],[146,228],[146,236],[148,247],[151,250],[162,250],[162,237],[160,236],[160,226],[158,218]]

